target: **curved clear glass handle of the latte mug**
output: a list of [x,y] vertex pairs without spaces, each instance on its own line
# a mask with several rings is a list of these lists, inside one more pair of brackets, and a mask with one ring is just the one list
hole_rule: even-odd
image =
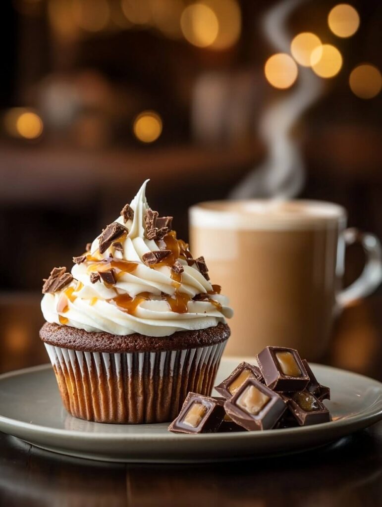
[[343,238],[346,245],[361,243],[366,255],[366,264],[359,278],[337,295],[340,308],[351,306],[369,296],[382,281],[382,247],[378,238],[374,234],[361,232],[356,228],[346,229]]

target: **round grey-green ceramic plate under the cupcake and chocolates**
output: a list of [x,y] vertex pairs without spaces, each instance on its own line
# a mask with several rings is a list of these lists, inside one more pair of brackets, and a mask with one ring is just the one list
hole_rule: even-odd
[[[219,383],[248,358],[223,358]],[[312,370],[331,387],[325,401],[333,421],[266,431],[174,434],[167,424],[116,425],[82,421],[61,405],[50,365],[0,376],[0,430],[71,456],[122,462],[202,462],[298,452],[320,446],[382,419],[382,383],[322,365]]]

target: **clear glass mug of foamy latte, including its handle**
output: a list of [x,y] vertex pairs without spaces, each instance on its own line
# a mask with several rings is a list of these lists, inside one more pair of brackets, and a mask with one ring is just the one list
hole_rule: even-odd
[[[327,351],[334,318],[382,280],[378,239],[346,229],[346,211],[321,201],[211,201],[190,209],[190,243],[203,253],[234,316],[226,355],[253,356],[266,345],[292,347],[308,360]],[[366,263],[342,288],[346,245]]]

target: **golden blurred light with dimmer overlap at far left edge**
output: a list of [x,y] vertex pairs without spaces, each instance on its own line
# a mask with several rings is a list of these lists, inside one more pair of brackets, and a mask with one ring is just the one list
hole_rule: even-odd
[[4,128],[13,137],[36,139],[43,132],[40,116],[26,107],[12,107],[4,116]]

